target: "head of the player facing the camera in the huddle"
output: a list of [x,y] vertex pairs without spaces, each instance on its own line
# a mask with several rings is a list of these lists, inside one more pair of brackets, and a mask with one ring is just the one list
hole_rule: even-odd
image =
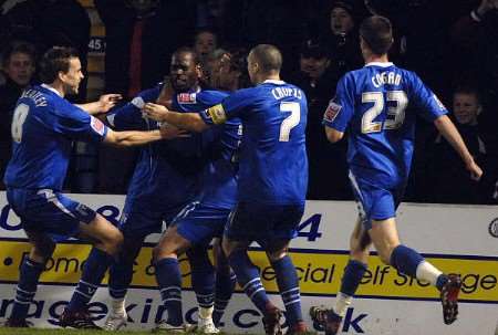
[[176,92],[186,92],[197,85],[200,71],[194,62],[190,52],[174,54],[169,67],[173,88]]

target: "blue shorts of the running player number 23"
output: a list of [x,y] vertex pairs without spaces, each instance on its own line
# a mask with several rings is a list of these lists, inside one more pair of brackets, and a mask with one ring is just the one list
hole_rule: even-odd
[[372,229],[372,220],[386,220],[396,217],[396,209],[405,192],[405,184],[395,189],[385,189],[354,176],[351,171],[350,181],[360,219],[366,230]]

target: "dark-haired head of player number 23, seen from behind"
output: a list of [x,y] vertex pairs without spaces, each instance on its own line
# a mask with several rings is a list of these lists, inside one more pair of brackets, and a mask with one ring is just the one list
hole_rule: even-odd
[[373,15],[363,20],[360,36],[375,54],[385,54],[393,45],[393,27],[387,18]]

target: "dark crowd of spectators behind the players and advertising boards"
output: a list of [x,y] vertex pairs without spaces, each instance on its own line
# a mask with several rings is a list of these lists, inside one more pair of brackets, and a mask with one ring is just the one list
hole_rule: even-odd
[[[418,123],[405,200],[498,203],[498,0],[94,0],[105,24],[105,92],[125,100],[166,75],[174,50],[190,45],[209,73],[222,49],[277,45],[282,77],[308,96],[308,199],[350,200],[347,142],[328,143],[321,124],[338,80],[363,66],[357,27],[376,13],[395,29],[391,60],[415,71],[452,112],[484,167],[474,181],[430,124]],[[10,123],[23,87],[37,83],[37,59],[71,45],[86,69],[90,18],[76,0],[0,0],[0,172],[10,157]],[[74,102],[85,100],[85,83]],[[66,190],[125,193],[133,150],[74,144]],[[100,159],[98,159],[100,157]]]

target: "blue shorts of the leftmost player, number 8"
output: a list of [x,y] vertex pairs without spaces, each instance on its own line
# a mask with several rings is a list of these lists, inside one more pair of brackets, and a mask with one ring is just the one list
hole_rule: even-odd
[[74,237],[80,222],[90,223],[96,216],[93,209],[51,189],[10,188],[7,199],[24,230],[53,234],[58,240],[59,235]]

